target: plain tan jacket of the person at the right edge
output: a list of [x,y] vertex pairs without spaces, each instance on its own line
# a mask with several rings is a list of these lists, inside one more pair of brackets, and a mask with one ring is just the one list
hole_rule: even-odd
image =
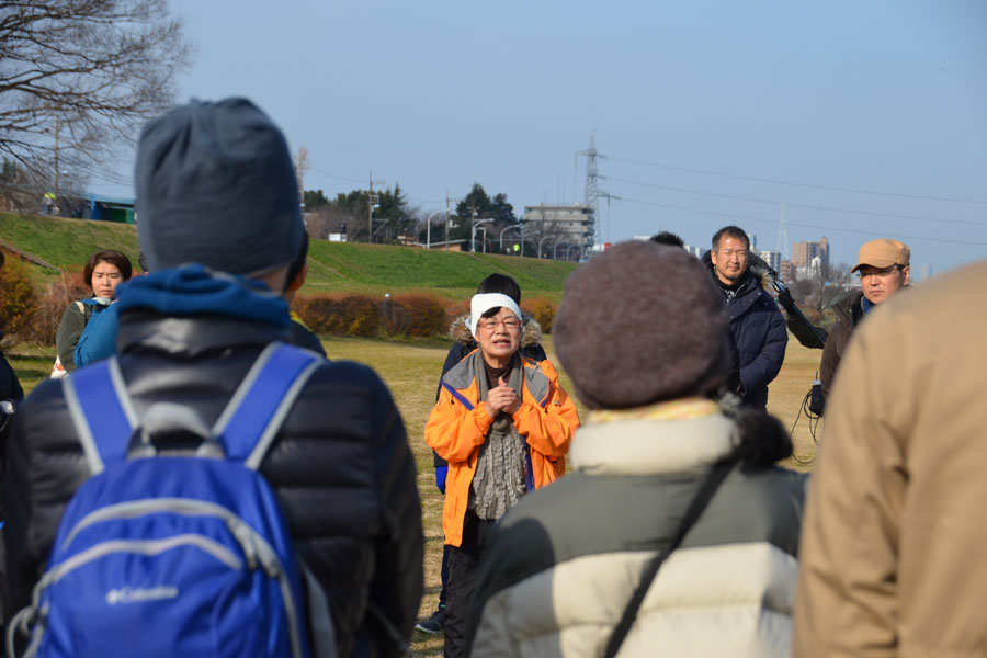
[[809,485],[795,656],[987,651],[987,261],[869,314]]

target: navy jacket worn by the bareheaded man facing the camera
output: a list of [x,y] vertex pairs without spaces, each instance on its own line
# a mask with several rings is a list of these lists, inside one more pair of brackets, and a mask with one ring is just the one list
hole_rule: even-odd
[[[703,262],[718,286],[708,251],[703,254]],[[726,304],[740,364],[740,398],[745,405],[763,409],[768,406],[768,384],[778,376],[785,361],[789,344],[785,319],[750,269],[745,272],[737,294]]]

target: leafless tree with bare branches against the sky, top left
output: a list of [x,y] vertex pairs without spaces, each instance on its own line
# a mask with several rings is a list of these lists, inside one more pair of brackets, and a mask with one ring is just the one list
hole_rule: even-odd
[[167,0],[0,0],[0,154],[45,181],[84,169],[172,103],[191,60]]

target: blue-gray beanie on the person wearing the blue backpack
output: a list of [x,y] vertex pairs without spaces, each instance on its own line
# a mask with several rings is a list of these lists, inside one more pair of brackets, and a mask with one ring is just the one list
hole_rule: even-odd
[[247,99],[193,100],[151,120],[136,180],[137,232],[151,271],[195,262],[258,276],[302,248],[287,144]]

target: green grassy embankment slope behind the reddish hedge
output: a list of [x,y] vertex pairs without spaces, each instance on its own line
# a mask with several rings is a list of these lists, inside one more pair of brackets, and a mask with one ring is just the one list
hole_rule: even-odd
[[[123,251],[135,268],[139,254],[136,227],[107,222],[0,214],[0,238],[60,270],[81,270],[101,249]],[[535,258],[313,240],[308,280],[300,292],[379,296],[417,292],[458,300],[468,298],[488,274],[500,272],[512,276],[526,298],[558,302],[566,277],[577,266]],[[58,276],[39,266],[32,271],[41,281]]]

